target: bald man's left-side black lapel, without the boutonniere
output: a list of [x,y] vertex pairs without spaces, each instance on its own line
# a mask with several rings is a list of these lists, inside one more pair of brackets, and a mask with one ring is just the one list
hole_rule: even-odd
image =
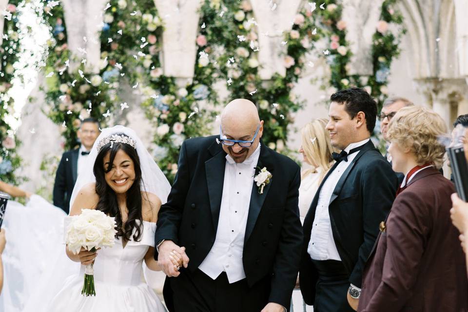
[[221,199],[223,196],[224,171],[226,168],[226,153],[215,143],[209,148],[214,155],[205,161],[206,181],[208,184],[208,195],[210,196],[210,208],[213,218],[215,232],[218,228],[219,211],[221,209]]

